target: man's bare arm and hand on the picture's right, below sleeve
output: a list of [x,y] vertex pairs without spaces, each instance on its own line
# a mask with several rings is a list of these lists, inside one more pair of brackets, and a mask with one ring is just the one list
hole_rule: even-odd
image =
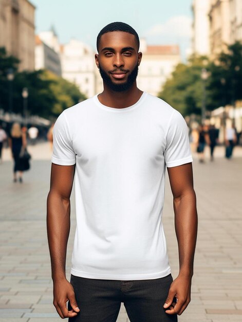
[[[196,194],[192,163],[167,168],[174,197],[175,230],[179,251],[179,275],[173,281],[164,304],[167,314],[180,315],[191,300],[193,261],[197,238]],[[173,298],[177,298],[177,303]]]

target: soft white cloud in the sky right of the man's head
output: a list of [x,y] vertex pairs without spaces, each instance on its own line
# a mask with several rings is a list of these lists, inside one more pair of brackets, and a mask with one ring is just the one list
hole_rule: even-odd
[[152,26],[145,32],[145,37],[169,36],[184,37],[192,36],[192,19],[188,16],[174,16],[163,24]]

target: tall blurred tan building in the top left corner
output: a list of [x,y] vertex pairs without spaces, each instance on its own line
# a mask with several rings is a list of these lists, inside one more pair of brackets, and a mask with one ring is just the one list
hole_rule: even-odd
[[28,0],[0,0],[0,47],[20,59],[20,71],[34,70],[34,12]]

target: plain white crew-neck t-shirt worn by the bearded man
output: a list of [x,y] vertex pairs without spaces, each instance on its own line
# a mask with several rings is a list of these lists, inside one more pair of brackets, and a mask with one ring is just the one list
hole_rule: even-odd
[[190,162],[185,120],[150,94],[123,109],[96,95],[65,110],[53,130],[52,163],[76,164],[71,274],[114,280],[170,274],[161,222],[165,166]]

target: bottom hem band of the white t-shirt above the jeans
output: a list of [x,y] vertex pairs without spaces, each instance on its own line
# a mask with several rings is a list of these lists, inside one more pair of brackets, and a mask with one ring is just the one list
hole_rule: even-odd
[[165,277],[171,274],[171,268],[158,272],[149,274],[97,274],[97,273],[87,273],[82,271],[77,271],[71,269],[70,273],[74,276],[92,278],[92,279],[108,279],[108,280],[146,280],[146,279],[156,279]]

